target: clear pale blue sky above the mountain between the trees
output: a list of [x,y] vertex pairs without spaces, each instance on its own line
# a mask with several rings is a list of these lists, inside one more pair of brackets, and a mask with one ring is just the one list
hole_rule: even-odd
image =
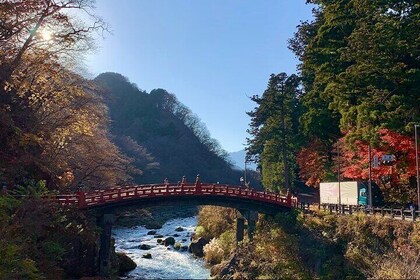
[[287,48],[312,18],[305,0],[97,0],[111,34],[86,65],[117,72],[142,90],[175,94],[228,152],[245,147],[255,104],[271,73],[296,72]]

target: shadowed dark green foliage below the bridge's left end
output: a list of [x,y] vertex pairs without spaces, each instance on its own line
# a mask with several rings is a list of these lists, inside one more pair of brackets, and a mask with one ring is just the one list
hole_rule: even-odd
[[93,275],[95,226],[82,213],[39,198],[32,182],[0,195],[0,279],[61,279]]

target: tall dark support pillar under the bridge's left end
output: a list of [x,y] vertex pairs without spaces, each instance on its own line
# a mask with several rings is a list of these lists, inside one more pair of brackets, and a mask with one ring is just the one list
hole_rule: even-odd
[[99,247],[99,274],[107,277],[111,272],[111,233],[116,217],[114,214],[103,214],[99,218],[102,229]]

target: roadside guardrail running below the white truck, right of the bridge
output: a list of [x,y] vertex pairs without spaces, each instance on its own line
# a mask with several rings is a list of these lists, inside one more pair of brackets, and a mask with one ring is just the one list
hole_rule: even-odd
[[389,217],[399,220],[420,220],[420,211],[415,209],[406,208],[385,208],[385,207],[374,207],[369,208],[361,205],[338,205],[338,204],[310,204],[310,203],[299,203],[299,208],[303,211],[310,211],[310,206],[318,206],[318,209],[323,209],[329,213],[336,214],[353,214],[362,212],[367,215],[381,215],[382,217]]

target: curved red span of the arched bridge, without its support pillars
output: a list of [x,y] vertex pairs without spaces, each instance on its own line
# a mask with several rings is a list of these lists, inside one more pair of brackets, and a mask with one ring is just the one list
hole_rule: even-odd
[[148,184],[77,192],[71,195],[58,195],[62,205],[74,205],[81,209],[119,208],[136,205],[149,207],[165,203],[210,204],[242,209],[252,209],[268,214],[290,210],[297,207],[296,197],[262,192],[239,186],[181,183]]

